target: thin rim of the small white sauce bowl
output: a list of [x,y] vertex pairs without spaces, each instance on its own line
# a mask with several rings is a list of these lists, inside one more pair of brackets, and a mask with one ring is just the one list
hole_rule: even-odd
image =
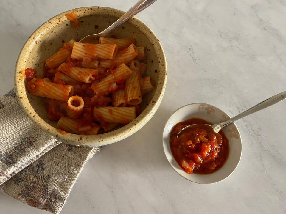
[[[162,133],[162,146],[163,146],[164,154],[165,154],[165,157],[166,157],[168,163],[169,163],[170,166],[172,167],[172,169],[174,169],[174,171],[177,172],[177,173],[178,173],[181,177],[183,177],[184,179],[189,180],[189,181],[194,182],[194,183],[197,183],[197,184],[214,184],[214,183],[218,183],[218,182],[221,182],[221,181],[225,180],[226,178],[228,178],[228,177],[237,169],[237,166],[239,165],[240,160],[241,160],[242,150],[243,150],[243,148],[242,148],[242,138],[241,138],[241,135],[240,135],[240,131],[238,130],[237,125],[236,125],[234,122],[232,122],[232,123],[233,123],[234,126],[236,127],[236,129],[237,129],[237,131],[238,131],[238,135],[240,136],[240,144],[241,144],[241,150],[240,150],[240,154],[239,154],[240,157],[239,157],[239,160],[238,160],[238,162],[237,162],[237,165],[235,166],[235,168],[233,169],[233,171],[231,171],[231,173],[230,173],[227,177],[223,178],[222,180],[219,180],[219,181],[216,181],[216,182],[210,182],[210,183],[200,183],[200,182],[195,182],[195,181],[193,181],[193,180],[190,180],[189,178],[184,177],[183,175],[181,175],[181,174],[172,166],[172,164],[170,163],[170,161],[169,161],[169,159],[167,158],[167,155],[166,155],[166,150],[165,150],[165,147],[164,147],[164,133],[165,133],[165,130],[166,130],[166,128],[167,128],[166,126],[167,126],[167,123],[168,123],[169,119],[170,119],[177,111],[179,111],[181,108],[184,108],[184,107],[186,107],[186,106],[195,105],[195,104],[205,104],[205,105],[213,106],[213,107],[219,109],[220,111],[222,111],[227,117],[229,117],[229,115],[226,114],[226,112],[224,112],[223,110],[221,110],[221,109],[218,108],[217,106],[214,106],[214,105],[211,105],[211,104],[208,104],[208,103],[189,103],[189,104],[186,104],[186,105],[184,105],[184,106],[181,106],[180,108],[176,109],[172,114],[170,114],[170,117],[168,117],[168,119],[167,119],[166,122],[165,122],[164,129],[163,129],[163,133]],[[173,128],[173,127],[172,127],[172,128]],[[168,144],[167,144],[168,147],[170,147],[170,142],[169,142],[169,141],[170,141],[170,139],[168,138]],[[173,155],[172,155],[172,157],[173,157]],[[227,160],[226,160],[226,161],[227,161]],[[187,174],[187,173],[186,173],[186,174]],[[212,173],[211,173],[211,174],[212,174]],[[204,176],[204,174],[201,174],[201,175]]]

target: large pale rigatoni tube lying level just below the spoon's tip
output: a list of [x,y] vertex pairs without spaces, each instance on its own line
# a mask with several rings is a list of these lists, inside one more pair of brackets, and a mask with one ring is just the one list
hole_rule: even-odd
[[116,44],[89,44],[75,42],[72,48],[71,58],[72,59],[83,59],[89,57],[92,59],[114,59],[118,51]]

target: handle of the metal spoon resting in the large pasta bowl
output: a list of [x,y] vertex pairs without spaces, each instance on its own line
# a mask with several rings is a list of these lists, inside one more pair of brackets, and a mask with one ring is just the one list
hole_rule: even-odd
[[131,17],[135,16],[140,11],[144,10],[145,8],[149,7],[157,0],[140,0],[138,1],[133,7],[131,7],[126,13],[124,13],[119,19],[117,19],[111,26],[106,28],[104,31],[101,32],[102,37],[105,37],[108,33],[113,31],[119,25],[130,19]]

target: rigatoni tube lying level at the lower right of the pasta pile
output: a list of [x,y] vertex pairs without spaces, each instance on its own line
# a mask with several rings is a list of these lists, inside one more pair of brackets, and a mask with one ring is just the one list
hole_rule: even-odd
[[136,117],[135,107],[98,107],[93,108],[95,121],[127,124]]

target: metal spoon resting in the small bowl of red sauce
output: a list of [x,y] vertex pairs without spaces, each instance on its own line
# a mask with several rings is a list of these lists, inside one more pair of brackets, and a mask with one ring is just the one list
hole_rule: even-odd
[[226,120],[225,122],[221,122],[218,124],[213,124],[213,125],[209,125],[209,124],[193,124],[193,125],[188,125],[184,128],[182,128],[177,137],[180,137],[184,132],[186,132],[187,130],[190,130],[192,128],[195,128],[195,126],[197,125],[206,125],[208,128],[209,126],[215,131],[215,133],[218,133],[223,127],[225,127],[226,125],[229,125],[231,122],[237,121],[238,119],[241,119],[249,114],[253,114],[254,112],[257,112],[259,110],[262,110],[264,108],[267,108],[269,106],[272,106],[275,103],[280,102],[281,100],[284,100],[286,98],[286,91],[281,92],[277,95],[274,95],[273,97],[270,97],[264,101],[262,101],[261,103],[258,103],[257,105],[249,108],[248,110],[238,114],[237,116],[230,118],[228,120]]

